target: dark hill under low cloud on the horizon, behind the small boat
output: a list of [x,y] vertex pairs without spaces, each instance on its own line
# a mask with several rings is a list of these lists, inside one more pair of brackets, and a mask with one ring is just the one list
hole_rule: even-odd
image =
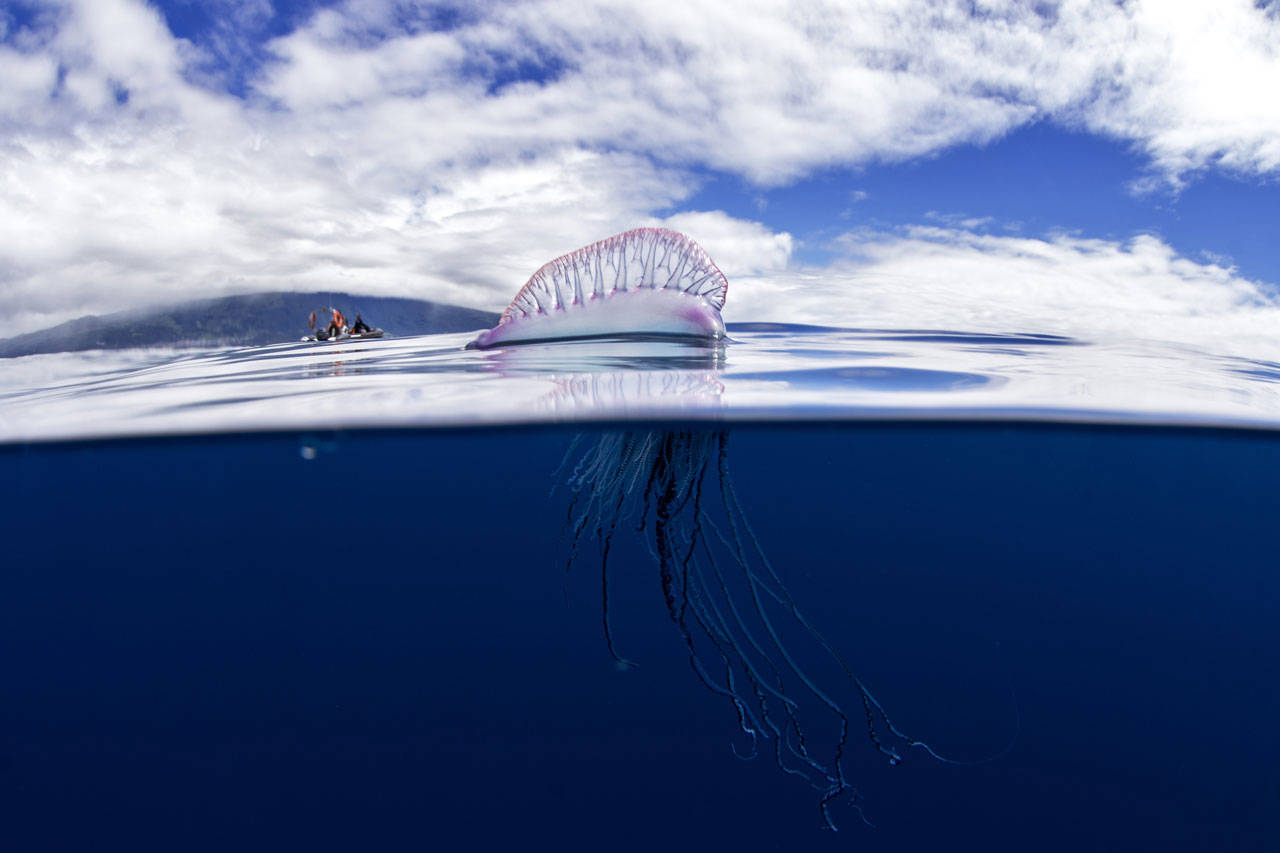
[[169,307],[82,316],[40,332],[0,341],[0,357],[37,352],[123,350],[150,346],[257,346],[297,341],[307,334],[307,315],[329,321],[334,306],[355,321],[356,313],[388,336],[470,332],[498,323],[497,314],[426,300],[349,293],[255,293],[197,300]]

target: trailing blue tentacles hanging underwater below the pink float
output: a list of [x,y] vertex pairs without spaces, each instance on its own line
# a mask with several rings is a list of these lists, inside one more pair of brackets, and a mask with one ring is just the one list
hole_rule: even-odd
[[[616,661],[630,665],[618,654],[609,624],[609,552],[614,535],[630,528],[644,538],[657,564],[667,615],[689,649],[694,672],[733,708],[749,742],[740,757],[755,757],[763,744],[771,744],[783,772],[819,792],[829,829],[836,829],[833,802],[847,797],[859,806],[844,768],[850,717],[788,651],[785,620],[847,676],[861,703],[867,736],[891,765],[901,760],[895,743],[938,757],[893,725],[796,607],[742,511],[728,471],[727,432],[604,433],[585,450],[576,441],[566,455],[570,465],[566,571],[579,561],[582,539],[594,538],[600,547],[604,637]],[[820,749],[808,733],[815,704],[835,721],[835,733],[823,740],[831,745]]]

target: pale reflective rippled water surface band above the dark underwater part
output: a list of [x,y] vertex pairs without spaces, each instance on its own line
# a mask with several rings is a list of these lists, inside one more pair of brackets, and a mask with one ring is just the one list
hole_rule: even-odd
[[1043,420],[1280,428],[1280,365],[1153,341],[730,327],[708,345],[440,334],[0,361],[0,442],[616,420]]

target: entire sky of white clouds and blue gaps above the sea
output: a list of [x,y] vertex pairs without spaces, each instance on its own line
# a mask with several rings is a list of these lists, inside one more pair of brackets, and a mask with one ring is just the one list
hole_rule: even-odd
[[18,330],[256,289],[500,309],[666,224],[730,320],[1243,346],[1277,318],[1276,4],[0,6]]

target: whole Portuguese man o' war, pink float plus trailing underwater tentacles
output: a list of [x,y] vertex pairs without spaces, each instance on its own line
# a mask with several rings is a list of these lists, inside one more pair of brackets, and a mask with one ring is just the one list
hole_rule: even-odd
[[[637,228],[545,264],[502,321],[468,346],[634,336],[691,336],[718,345],[727,291],[724,275],[692,240]],[[620,666],[631,662],[618,653],[609,622],[609,556],[614,537],[634,532],[657,565],[667,615],[694,672],[733,708],[749,743],[740,757],[772,752],[782,771],[817,789],[829,829],[836,829],[829,809],[836,800],[847,798],[861,811],[844,767],[851,717],[836,692],[819,685],[791,652],[788,638],[815,647],[827,669],[842,674],[867,738],[891,765],[901,761],[904,745],[947,761],[890,720],[796,607],[742,511],[728,471],[727,430],[605,432],[581,447],[579,437],[564,457],[572,492],[566,569],[579,562],[584,540],[596,542],[604,639]],[[833,724],[817,739],[815,716]]]

